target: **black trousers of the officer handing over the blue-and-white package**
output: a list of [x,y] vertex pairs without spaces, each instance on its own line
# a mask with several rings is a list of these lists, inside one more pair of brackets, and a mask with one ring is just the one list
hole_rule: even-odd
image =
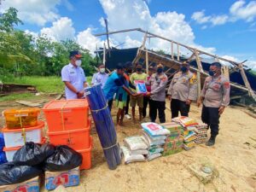
[[152,122],[155,122],[157,111],[158,111],[158,117],[160,119],[160,123],[166,123],[166,102],[158,102],[151,100],[151,106],[150,106],[151,114],[150,119]]

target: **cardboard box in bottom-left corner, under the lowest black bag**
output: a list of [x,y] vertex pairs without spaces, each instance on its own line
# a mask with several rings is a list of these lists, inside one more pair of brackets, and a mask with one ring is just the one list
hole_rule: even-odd
[[1,192],[39,192],[39,177],[34,177],[26,182],[0,186]]

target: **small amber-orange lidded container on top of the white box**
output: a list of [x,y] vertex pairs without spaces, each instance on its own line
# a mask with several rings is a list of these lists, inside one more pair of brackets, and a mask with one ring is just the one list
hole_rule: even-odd
[[6,127],[20,129],[38,125],[39,108],[6,109],[3,111]]

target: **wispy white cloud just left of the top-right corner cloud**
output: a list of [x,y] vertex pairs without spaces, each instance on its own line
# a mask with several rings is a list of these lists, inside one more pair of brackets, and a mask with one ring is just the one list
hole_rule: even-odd
[[[206,16],[205,10],[197,11],[191,16],[192,20],[195,20],[199,24],[211,23],[212,26],[224,25],[229,21],[228,15],[211,15]],[[207,28],[205,25],[203,29]]]

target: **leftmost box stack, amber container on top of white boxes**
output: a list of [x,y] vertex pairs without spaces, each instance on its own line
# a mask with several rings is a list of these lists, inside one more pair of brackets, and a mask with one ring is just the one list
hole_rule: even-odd
[[44,143],[44,122],[38,121],[39,108],[7,109],[3,111],[5,127],[3,151],[8,161],[13,161],[15,152],[26,142]]

